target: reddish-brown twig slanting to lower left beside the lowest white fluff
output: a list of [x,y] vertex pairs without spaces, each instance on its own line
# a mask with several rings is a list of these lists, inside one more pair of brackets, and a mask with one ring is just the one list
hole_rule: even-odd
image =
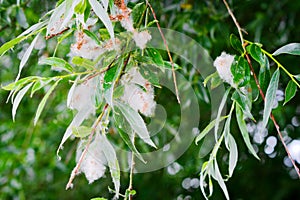
[[92,142],[93,136],[94,136],[94,134],[96,132],[97,126],[101,122],[102,117],[103,117],[103,115],[104,115],[104,113],[105,113],[105,111],[106,111],[107,108],[108,108],[108,104],[105,104],[102,113],[99,115],[98,119],[96,120],[96,122],[95,122],[95,124],[93,126],[91,134],[89,135],[89,138],[88,138],[88,142],[87,142],[87,144],[86,144],[86,146],[85,146],[85,148],[84,148],[84,150],[83,150],[83,152],[82,152],[82,154],[81,154],[81,156],[79,158],[79,161],[77,162],[75,168],[73,169],[73,171],[71,173],[70,179],[69,179],[68,184],[66,186],[66,190],[68,190],[69,188],[73,187],[73,180],[74,180],[75,176],[79,173],[81,163],[83,162],[83,159],[84,159],[85,155],[87,154],[87,151],[88,151],[88,149],[90,147],[90,144]]

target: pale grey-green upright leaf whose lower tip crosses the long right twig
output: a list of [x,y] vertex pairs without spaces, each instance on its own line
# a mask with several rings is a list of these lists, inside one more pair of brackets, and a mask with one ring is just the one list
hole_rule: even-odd
[[268,120],[269,120],[270,114],[272,112],[272,108],[273,108],[274,101],[276,98],[276,90],[278,88],[279,76],[280,76],[280,71],[278,68],[274,72],[274,74],[271,78],[269,87],[267,89],[266,99],[265,99],[265,107],[264,107],[264,115],[263,115],[263,123],[262,123],[261,130],[263,130],[268,124]]

